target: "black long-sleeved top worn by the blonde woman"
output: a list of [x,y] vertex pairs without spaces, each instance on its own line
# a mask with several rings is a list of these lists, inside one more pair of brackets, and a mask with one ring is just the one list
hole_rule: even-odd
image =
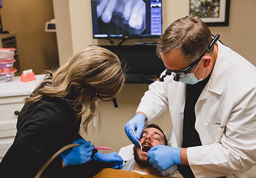
[[[18,117],[14,143],[0,163],[1,177],[34,177],[50,156],[81,138],[81,118],[75,119],[76,111],[62,98],[43,96],[38,102],[25,104]],[[74,166],[62,168],[59,155],[45,172],[55,172],[59,177],[70,167]]]

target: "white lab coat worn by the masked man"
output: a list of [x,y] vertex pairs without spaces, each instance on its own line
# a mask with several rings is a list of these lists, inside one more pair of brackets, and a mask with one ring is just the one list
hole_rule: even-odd
[[[165,72],[163,72],[165,74]],[[186,85],[173,76],[154,82],[137,111],[152,122],[168,108],[172,120],[170,146],[182,145]],[[221,43],[211,78],[195,106],[202,146],[187,149],[196,177],[256,176],[256,68]],[[170,126],[171,127],[171,126]]]

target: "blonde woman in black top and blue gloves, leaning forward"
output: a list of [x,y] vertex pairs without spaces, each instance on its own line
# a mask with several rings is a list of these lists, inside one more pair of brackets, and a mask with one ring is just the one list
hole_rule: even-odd
[[[35,177],[42,165],[63,146],[80,145],[61,153],[43,176],[93,177],[103,167],[120,169],[122,158],[103,154],[78,134],[96,113],[96,102],[112,101],[124,86],[119,58],[99,46],[75,54],[57,71],[49,71],[18,116],[17,134],[0,163],[1,177]],[[85,118],[81,116],[86,112]]]

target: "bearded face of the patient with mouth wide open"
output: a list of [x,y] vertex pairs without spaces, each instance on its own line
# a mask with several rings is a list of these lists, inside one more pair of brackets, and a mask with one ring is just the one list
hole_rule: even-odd
[[142,145],[142,150],[140,149],[140,146],[134,146],[135,161],[141,166],[152,166],[149,163],[149,158],[147,158],[147,151],[153,146],[164,145],[164,135],[156,128],[146,128],[141,134],[140,143]]

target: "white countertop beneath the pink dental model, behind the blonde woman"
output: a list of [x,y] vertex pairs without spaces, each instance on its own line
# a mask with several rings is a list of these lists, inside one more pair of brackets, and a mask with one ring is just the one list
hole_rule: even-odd
[[9,82],[0,83],[0,97],[30,95],[35,86],[44,79],[45,75],[35,75],[35,80],[21,82],[21,77],[13,77]]

